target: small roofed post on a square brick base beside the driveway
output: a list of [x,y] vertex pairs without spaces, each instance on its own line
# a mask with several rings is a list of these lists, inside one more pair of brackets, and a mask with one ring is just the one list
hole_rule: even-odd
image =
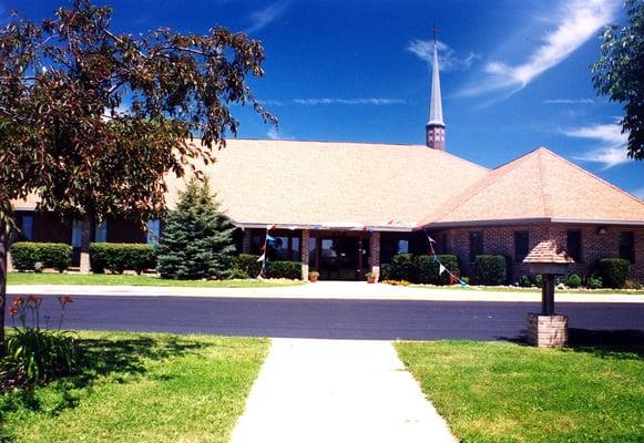
[[542,276],[541,312],[528,315],[528,343],[539,348],[562,348],[568,344],[568,317],[554,312],[554,277],[564,275],[574,260],[560,249],[556,240],[541,241],[523,262],[530,274]]

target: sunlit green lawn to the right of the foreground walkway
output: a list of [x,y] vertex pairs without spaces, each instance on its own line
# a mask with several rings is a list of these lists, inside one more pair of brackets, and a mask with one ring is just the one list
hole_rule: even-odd
[[501,342],[397,342],[463,442],[643,442],[644,346],[550,350]]

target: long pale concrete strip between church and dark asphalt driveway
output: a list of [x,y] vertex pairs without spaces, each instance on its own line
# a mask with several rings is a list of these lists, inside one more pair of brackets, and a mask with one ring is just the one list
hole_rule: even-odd
[[[63,286],[10,285],[11,295],[51,293],[83,296],[186,296],[221,298],[297,298],[350,300],[442,300],[442,301],[541,301],[536,291],[484,291],[477,288],[441,289],[368,285],[364,281],[318,281],[274,288],[185,288],[155,286]],[[643,303],[644,295],[624,293],[562,293],[559,302],[627,302]]]

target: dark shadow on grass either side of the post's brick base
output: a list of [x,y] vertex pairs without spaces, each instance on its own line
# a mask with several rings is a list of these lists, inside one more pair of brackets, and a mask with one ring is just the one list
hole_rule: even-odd
[[[528,346],[527,331],[515,337],[495,337],[497,340]],[[637,329],[592,330],[569,328],[568,349],[597,357],[644,358],[644,331]]]

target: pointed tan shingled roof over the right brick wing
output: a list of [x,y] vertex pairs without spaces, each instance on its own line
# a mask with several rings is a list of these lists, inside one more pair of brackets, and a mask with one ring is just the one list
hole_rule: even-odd
[[644,225],[644,202],[540,147],[491,171],[423,225],[502,220]]

